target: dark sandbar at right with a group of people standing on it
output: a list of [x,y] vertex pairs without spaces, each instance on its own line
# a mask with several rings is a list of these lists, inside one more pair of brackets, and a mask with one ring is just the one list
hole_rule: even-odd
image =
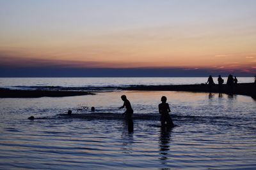
[[122,90],[152,90],[152,91],[184,91],[184,92],[221,92],[223,94],[241,94],[246,96],[252,96],[256,98],[256,83],[238,83],[232,87],[224,84],[212,85],[211,87],[206,84],[198,85],[139,85],[132,87],[125,87]]

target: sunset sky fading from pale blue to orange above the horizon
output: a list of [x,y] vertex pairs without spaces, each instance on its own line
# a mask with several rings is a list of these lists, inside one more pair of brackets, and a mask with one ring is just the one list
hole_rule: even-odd
[[0,76],[253,76],[255,8],[254,0],[0,0]]

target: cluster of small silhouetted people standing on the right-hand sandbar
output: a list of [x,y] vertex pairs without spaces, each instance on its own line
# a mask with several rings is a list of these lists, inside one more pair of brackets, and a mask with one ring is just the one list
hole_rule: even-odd
[[[236,76],[232,76],[232,74],[228,75],[227,86],[228,86],[228,90],[229,90],[230,94],[232,94],[233,87],[237,85],[237,82],[238,82],[238,80],[237,80]],[[218,76],[218,90],[219,90],[219,94],[222,93],[222,85],[223,85],[223,83],[224,83],[224,80],[223,80],[223,78],[221,78],[221,75],[219,75]],[[209,78],[208,78],[208,80],[207,80],[207,82],[205,84],[209,85],[209,92],[211,94],[212,87],[215,85],[211,75],[209,76]]]

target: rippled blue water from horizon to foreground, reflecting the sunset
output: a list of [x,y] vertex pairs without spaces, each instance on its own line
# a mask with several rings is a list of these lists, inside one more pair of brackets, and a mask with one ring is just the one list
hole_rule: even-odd
[[[253,82],[250,77],[238,83]],[[227,78],[224,78],[227,81]],[[256,169],[256,101],[250,96],[205,92],[129,91],[134,85],[205,83],[200,78],[0,78],[0,87],[81,90],[95,95],[0,98],[0,169]],[[217,78],[214,78],[215,83]],[[125,95],[133,131],[124,119],[60,117],[116,115]],[[167,97],[172,129],[161,127]],[[29,120],[28,117],[35,117]]]

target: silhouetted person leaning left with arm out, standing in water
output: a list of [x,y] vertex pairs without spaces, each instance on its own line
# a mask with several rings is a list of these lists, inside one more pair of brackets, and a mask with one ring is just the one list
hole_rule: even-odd
[[126,108],[126,111],[122,114],[122,116],[125,116],[125,119],[128,124],[128,131],[133,132],[133,120],[132,120],[132,115],[133,115],[133,110],[130,101],[128,101],[127,97],[125,95],[121,96],[122,101],[124,101],[123,106],[121,106],[119,109]]

